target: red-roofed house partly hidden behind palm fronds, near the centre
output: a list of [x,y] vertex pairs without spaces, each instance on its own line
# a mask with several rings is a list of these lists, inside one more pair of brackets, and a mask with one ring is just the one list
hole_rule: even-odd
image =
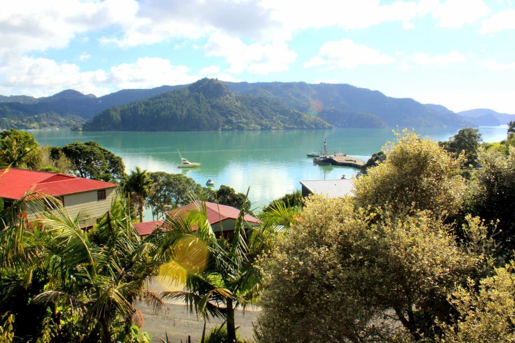
[[[213,229],[213,232],[215,233],[216,237],[220,237],[221,234],[224,234],[224,236],[227,236],[228,234],[232,233],[234,231],[234,226],[236,225],[236,219],[239,215],[239,209],[227,206],[227,205],[220,205],[210,202],[202,202],[202,204],[205,206],[205,212],[208,217],[208,221],[211,224],[211,228]],[[187,212],[195,210],[197,207],[197,204],[191,203],[182,207],[179,207],[175,210],[172,210],[168,212],[167,214],[169,216],[180,216],[185,215]],[[245,214],[245,223],[244,225],[247,227],[255,226],[260,223],[259,219],[255,218],[254,216],[250,214]],[[140,234],[140,236],[144,237],[148,234],[152,233],[157,228],[160,227],[166,227],[166,224],[163,226],[164,221],[158,220],[153,222],[143,222],[143,223],[136,223],[134,224],[134,227],[136,231]]]

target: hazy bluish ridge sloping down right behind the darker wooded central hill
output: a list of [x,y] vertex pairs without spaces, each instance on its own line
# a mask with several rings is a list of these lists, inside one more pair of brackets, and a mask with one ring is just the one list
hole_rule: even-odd
[[471,123],[443,106],[391,98],[350,84],[305,82],[226,82],[231,92],[272,97],[283,105],[316,115],[339,127],[443,127]]

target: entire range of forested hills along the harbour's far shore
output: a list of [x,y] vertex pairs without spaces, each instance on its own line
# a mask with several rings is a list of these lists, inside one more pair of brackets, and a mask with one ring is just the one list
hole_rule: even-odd
[[[90,120],[84,124],[87,130],[263,130],[325,127],[327,124],[323,122],[347,128],[465,127],[499,125],[515,118],[492,110],[456,114],[441,105],[391,98],[349,84],[208,79],[202,82],[224,84],[227,95],[208,99],[203,94],[205,89],[192,91],[192,84],[124,89],[98,98],[73,89],[44,98],[0,96],[0,129],[38,128],[40,123],[42,127],[51,127],[47,120],[50,117],[54,118],[54,124],[62,121],[61,126],[72,123],[78,126]],[[182,93],[177,92],[179,89]],[[162,101],[166,102],[161,107],[163,113],[148,112],[157,111]],[[200,120],[198,111],[205,118]],[[107,113],[113,120],[108,120]],[[130,122],[116,124],[115,113],[121,115],[120,120],[131,118]],[[162,122],[149,126],[145,118],[160,118]]]

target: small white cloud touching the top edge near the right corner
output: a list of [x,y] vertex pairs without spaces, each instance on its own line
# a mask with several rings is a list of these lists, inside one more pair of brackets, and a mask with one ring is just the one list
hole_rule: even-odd
[[433,17],[440,20],[439,26],[460,28],[487,16],[489,11],[482,0],[448,0],[436,8]]

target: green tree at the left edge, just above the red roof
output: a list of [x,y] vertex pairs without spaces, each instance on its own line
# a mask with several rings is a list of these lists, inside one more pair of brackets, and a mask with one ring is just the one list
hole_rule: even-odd
[[2,132],[0,149],[0,165],[31,169],[37,164],[39,144],[28,132]]

